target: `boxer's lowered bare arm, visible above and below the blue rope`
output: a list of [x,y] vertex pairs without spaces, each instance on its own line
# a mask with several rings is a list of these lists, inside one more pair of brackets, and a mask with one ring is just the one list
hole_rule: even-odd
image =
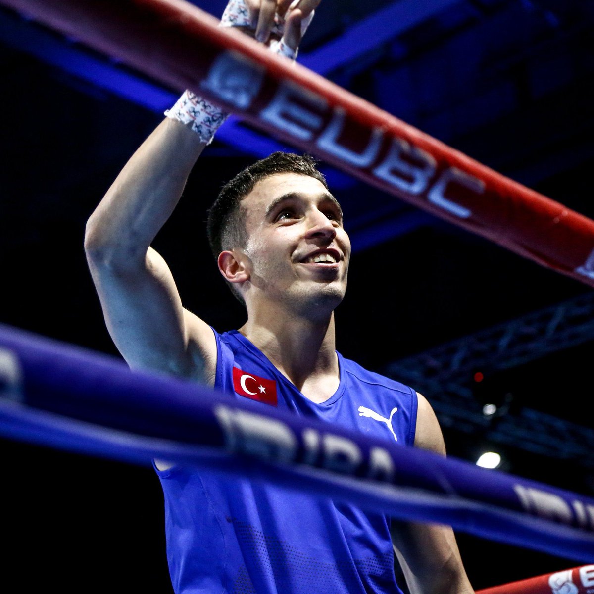
[[[443,435],[435,413],[418,394],[415,447],[445,456]],[[472,594],[450,526],[392,520],[394,552],[411,594]]]

